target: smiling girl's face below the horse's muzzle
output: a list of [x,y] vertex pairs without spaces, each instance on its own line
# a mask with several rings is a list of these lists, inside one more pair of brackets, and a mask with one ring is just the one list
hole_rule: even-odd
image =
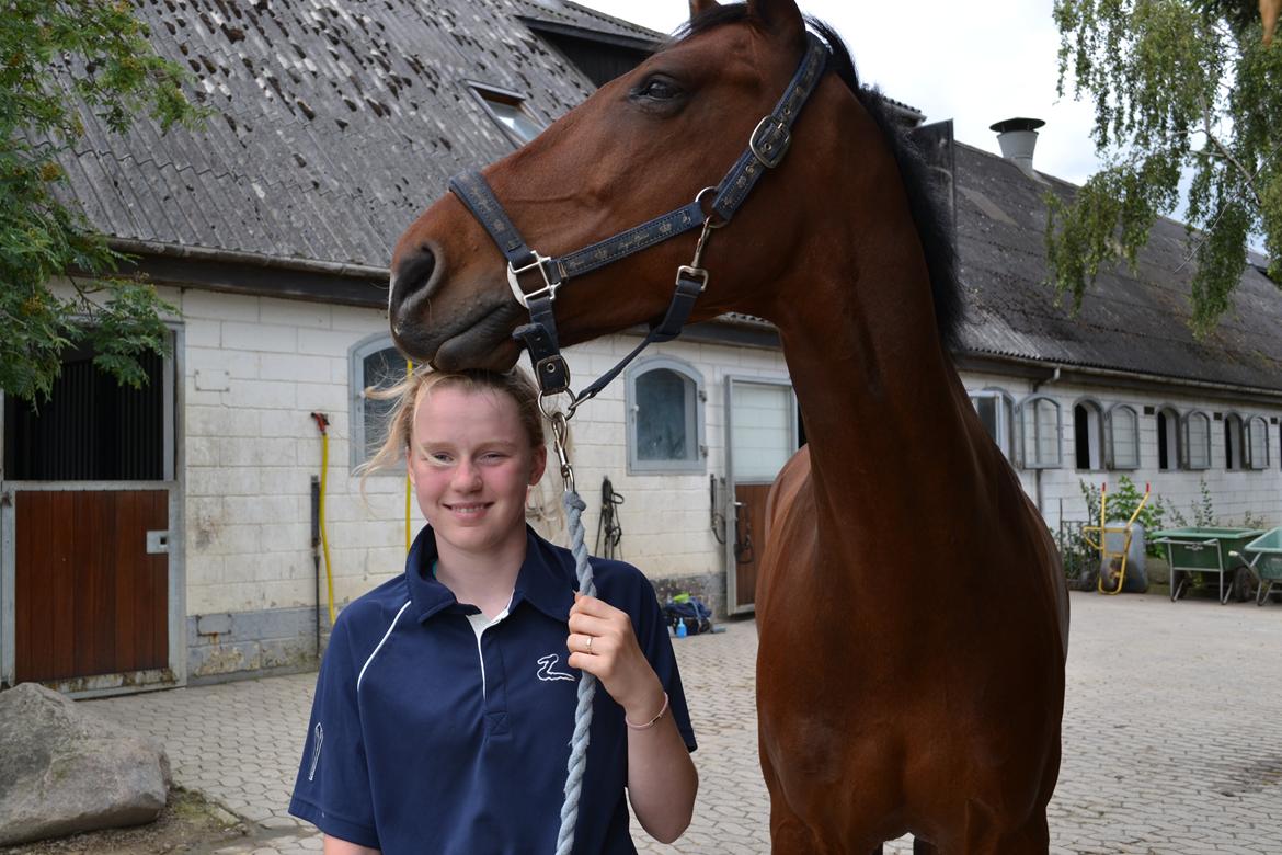
[[505,392],[436,388],[414,411],[409,477],[442,554],[524,545],[527,491],[546,460]]

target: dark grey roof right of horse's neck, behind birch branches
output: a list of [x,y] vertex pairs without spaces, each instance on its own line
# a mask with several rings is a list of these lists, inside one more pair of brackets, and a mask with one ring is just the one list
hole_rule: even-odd
[[1259,270],[1247,267],[1220,326],[1197,341],[1185,227],[1161,219],[1137,270],[1101,273],[1074,318],[1044,285],[1044,194],[1074,187],[962,144],[955,183],[963,351],[1282,391],[1282,290]]

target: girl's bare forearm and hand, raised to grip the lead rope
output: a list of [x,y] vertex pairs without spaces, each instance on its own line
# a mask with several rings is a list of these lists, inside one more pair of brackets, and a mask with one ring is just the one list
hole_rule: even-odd
[[699,773],[667,708],[663,683],[637,645],[632,618],[578,595],[569,629],[567,664],[595,674],[628,723],[641,726],[628,728],[628,800],[641,827],[670,843],[690,826]]

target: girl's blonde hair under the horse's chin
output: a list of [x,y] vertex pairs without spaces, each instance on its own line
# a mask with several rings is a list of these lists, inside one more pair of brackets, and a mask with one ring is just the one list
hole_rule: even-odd
[[459,370],[440,372],[431,368],[414,369],[395,386],[369,387],[365,397],[395,401],[387,414],[387,435],[378,451],[362,467],[362,479],[378,469],[388,469],[405,459],[414,440],[414,413],[418,404],[435,388],[458,388],[464,392],[501,392],[517,405],[520,427],[526,431],[531,449],[544,446],[544,418],[538,410],[538,387],[523,370],[506,372]]

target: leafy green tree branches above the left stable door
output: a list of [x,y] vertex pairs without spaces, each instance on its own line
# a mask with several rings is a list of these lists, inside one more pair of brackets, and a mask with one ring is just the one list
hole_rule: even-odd
[[[69,345],[95,349],[119,382],[146,381],[136,356],[164,353],[145,283],[110,278],[124,258],[58,196],[58,163],[85,136],[81,110],[124,132],[146,112],[163,129],[195,126],[182,69],[155,54],[123,0],[0,0],[0,388],[47,397]],[[65,196],[65,194],[64,194]],[[69,290],[55,292],[51,279]]]

